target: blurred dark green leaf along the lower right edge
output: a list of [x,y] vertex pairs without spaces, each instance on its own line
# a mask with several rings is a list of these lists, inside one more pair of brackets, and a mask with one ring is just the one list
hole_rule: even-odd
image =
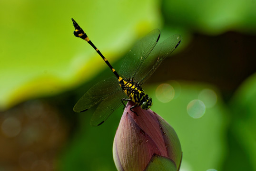
[[[230,137],[230,158],[224,170],[256,171],[256,74],[250,76],[239,87],[230,103],[232,122]],[[234,166],[234,162],[243,165]]]

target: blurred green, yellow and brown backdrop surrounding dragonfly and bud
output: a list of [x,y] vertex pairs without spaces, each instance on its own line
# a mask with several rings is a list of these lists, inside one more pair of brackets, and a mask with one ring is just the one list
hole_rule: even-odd
[[0,171],[115,171],[122,107],[72,108],[154,28],[181,44],[143,88],[180,138],[180,171],[256,171],[256,0],[1,0]]

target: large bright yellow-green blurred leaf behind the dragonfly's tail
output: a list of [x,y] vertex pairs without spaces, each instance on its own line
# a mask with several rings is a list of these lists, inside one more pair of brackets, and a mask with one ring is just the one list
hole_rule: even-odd
[[6,9],[0,14],[0,110],[56,95],[105,67],[86,42],[74,37],[72,17],[112,62],[138,36],[161,25],[156,0],[2,0],[0,6]]

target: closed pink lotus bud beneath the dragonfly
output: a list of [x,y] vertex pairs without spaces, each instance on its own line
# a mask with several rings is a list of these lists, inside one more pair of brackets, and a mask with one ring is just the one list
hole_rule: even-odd
[[118,171],[178,171],[181,145],[174,129],[152,110],[128,102],[113,144]]

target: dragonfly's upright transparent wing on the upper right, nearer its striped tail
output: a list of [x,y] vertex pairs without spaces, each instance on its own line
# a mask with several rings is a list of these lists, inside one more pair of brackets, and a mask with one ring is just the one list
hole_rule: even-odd
[[119,70],[119,74],[126,79],[136,77],[138,74],[138,68],[144,63],[143,61],[156,46],[159,37],[160,31],[158,29],[154,29],[144,38],[140,39],[128,52]]

